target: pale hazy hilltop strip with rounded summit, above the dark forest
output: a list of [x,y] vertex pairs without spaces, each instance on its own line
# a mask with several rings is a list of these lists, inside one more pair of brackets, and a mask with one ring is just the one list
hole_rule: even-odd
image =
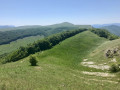
[[35,28],[71,28],[71,29],[76,29],[76,28],[91,28],[91,25],[74,25],[69,22],[63,22],[59,24],[53,24],[53,25],[27,25],[27,26],[19,26],[19,27],[6,27],[6,28],[0,28],[0,31],[11,31],[11,30],[22,30],[22,29],[35,29]]

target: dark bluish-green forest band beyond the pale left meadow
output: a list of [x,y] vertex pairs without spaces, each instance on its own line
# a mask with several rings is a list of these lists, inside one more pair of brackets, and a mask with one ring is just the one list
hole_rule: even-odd
[[59,33],[66,30],[78,29],[78,27],[34,27],[34,28],[22,28],[11,31],[0,31],[0,45],[9,44],[17,39],[22,39],[29,36],[44,35],[49,36],[55,33]]

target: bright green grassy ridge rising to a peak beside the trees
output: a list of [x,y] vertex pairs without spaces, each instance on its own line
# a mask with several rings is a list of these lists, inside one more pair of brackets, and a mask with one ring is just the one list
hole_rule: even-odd
[[98,37],[90,31],[85,31],[74,36],[74,38],[68,38],[50,50],[41,52],[37,58],[41,62],[85,69],[79,65],[80,62],[105,41],[107,39]]

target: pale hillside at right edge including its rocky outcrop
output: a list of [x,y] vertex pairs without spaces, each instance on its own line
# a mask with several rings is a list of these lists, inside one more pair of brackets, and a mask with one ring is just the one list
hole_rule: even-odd
[[[111,51],[110,55],[107,56],[108,51]],[[113,41],[106,41],[105,43],[101,44],[97,47],[94,51],[91,52],[89,55],[89,60],[93,61],[96,64],[105,64],[105,65],[113,65],[120,63],[120,39],[116,39]]]

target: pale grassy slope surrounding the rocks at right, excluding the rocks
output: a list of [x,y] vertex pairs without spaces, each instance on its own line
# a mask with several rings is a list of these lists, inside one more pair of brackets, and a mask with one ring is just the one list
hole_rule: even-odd
[[107,58],[105,56],[105,53],[107,50],[111,50],[113,48],[116,48],[120,46],[120,39],[113,40],[113,41],[107,41],[100,45],[98,48],[96,48],[91,54],[88,56],[90,61],[94,61],[98,64],[106,63],[107,65],[117,64],[120,63],[120,56],[115,56],[113,58],[116,58],[117,62],[110,62],[113,58]]

